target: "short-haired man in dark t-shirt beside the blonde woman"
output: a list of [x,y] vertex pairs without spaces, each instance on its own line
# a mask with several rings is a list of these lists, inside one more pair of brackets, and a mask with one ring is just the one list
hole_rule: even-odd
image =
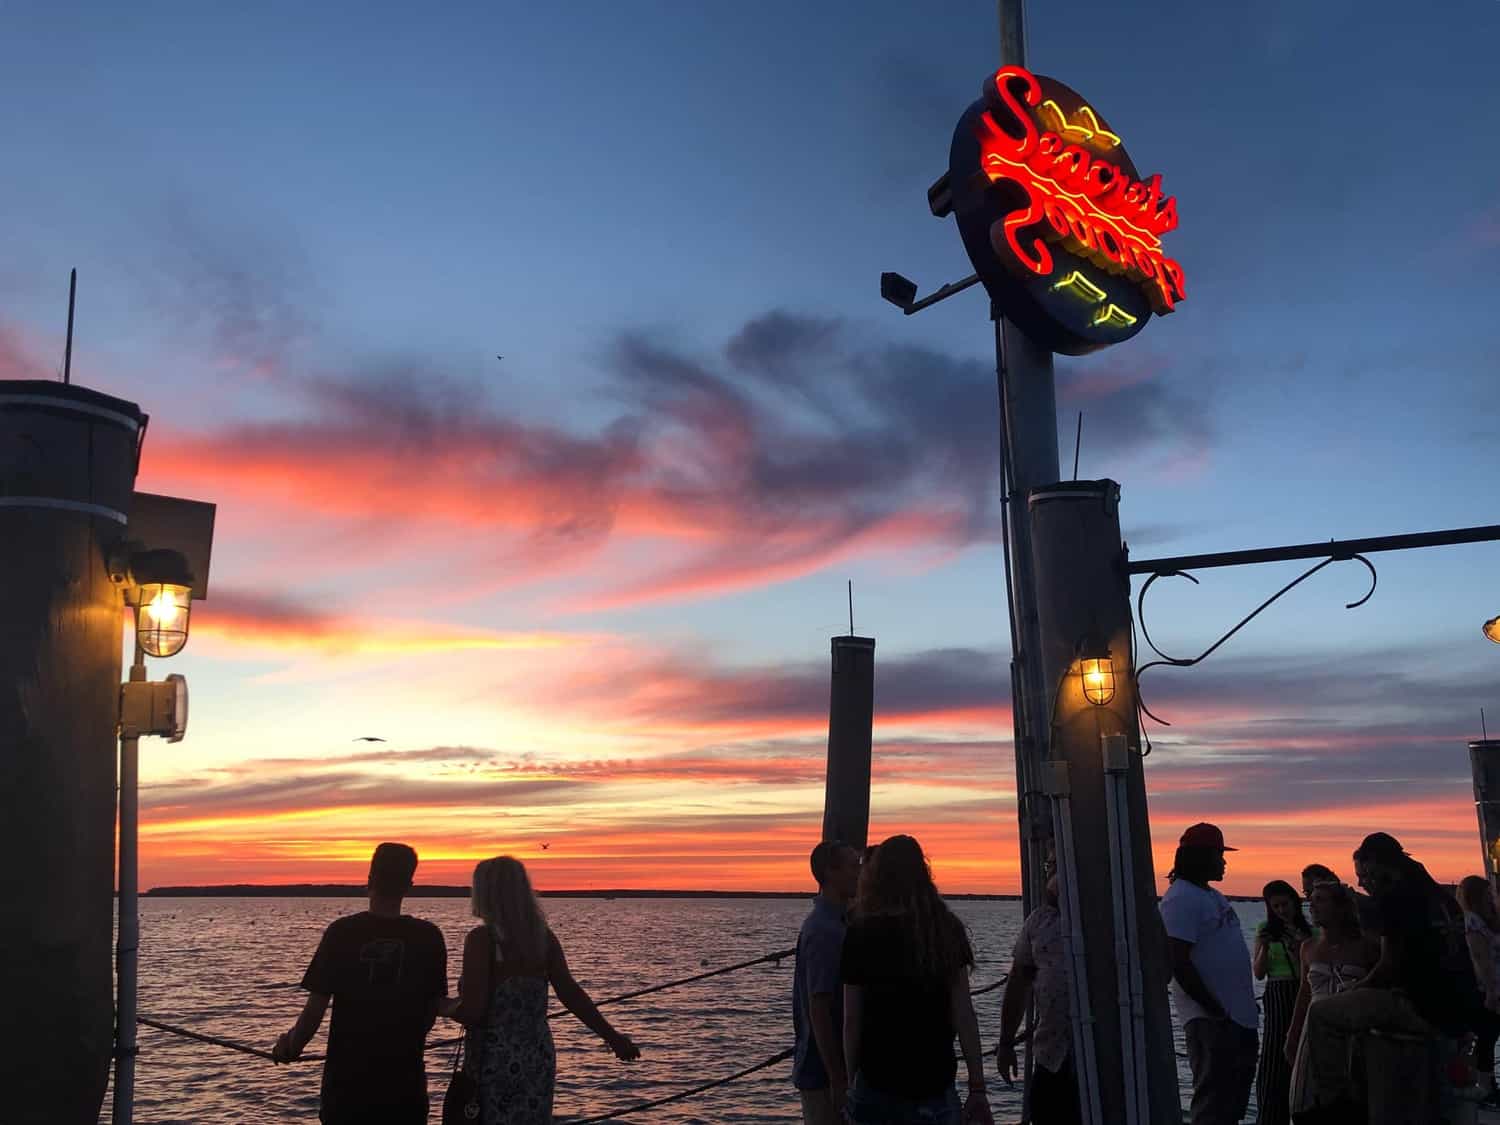
[[333,1000],[318,1119],[326,1125],[416,1125],[428,1119],[423,1050],[448,992],[447,946],[432,922],[400,912],[417,854],[382,843],[370,860],[369,910],[339,918],[303,974],[308,1002],[272,1048],[302,1056]]

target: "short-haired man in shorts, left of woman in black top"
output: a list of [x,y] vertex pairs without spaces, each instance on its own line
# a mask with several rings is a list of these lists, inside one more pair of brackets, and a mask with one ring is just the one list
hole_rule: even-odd
[[844,914],[860,880],[860,854],[849,844],[824,840],[810,856],[818,896],[796,934],[796,975],[792,978],[792,1083],[802,1100],[806,1125],[836,1125],[849,1090],[843,1058]]

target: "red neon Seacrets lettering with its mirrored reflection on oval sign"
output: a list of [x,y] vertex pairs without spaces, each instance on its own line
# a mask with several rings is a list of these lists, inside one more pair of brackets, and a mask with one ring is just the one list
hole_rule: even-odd
[[[1040,276],[1052,273],[1046,243],[1032,238],[1026,246],[1022,238],[1023,228],[1046,220],[1044,237],[1110,273],[1130,276],[1146,290],[1156,312],[1172,312],[1186,298],[1186,284],[1182,267],[1161,252],[1161,236],[1178,225],[1178,201],[1162,196],[1161,177],[1132,180],[1086,146],[1068,144],[1038,128],[1032,108],[1041,105],[1041,84],[1030,70],[1002,68],[994,75],[994,92],[1020,138],[1002,129],[992,112],[982,114],[980,160],[992,182],[1010,180],[1026,190],[1026,206],[998,224],[1016,260]],[[1094,117],[1092,110],[1089,114]],[[990,240],[1000,252],[996,232]]]

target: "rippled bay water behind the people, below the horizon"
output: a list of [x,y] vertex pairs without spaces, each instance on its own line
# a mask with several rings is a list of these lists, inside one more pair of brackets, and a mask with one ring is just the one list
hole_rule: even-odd
[[[1020,904],[952,906],[974,936],[974,984],[990,984],[1010,964]],[[548,898],[544,908],[573,975],[596,999],[790,948],[807,914],[806,900],[790,898]],[[303,993],[288,986],[302,978],[322,928],[357,909],[352,898],[144,898],[140,1011],[268,1050],[302,1010]],[[456,987],[464,934],[472,924],[468,903],[424,898],[411,909],[442,928],[448,980]],[[1239,910],[1252,928],[1258,910],[1251,904]],[[618,1062],[574,1018],[555,1020],[558,1116],[663,1096],[776,1054],[790,1046],[790,993],[788,958],[610,1005],[604,1012],[640,1046],[636,1064]],[[1000,994],[975,998],[986,1050],[999,1036]],[[309,1053],[322,1052],[326,1032],[327,1020]],[[432,1038],[453,1034],[456,1024],[440,1020]],[[135,1116],[142,1125],[316,1120],[318,1062],[274,1066],[152,1028],[141,1028],[140,1035]],[[1180,1042],[1178,1050],[1180,1062]],[[446,1050],[428,1054],[432,1120],[450,1058]],[[986,1071],[996,1120],[1018,1120],[1018,1088],[1011,1090],[998,1078],[993,1059],[986,1060]],[[1185,1070],[1180,1077],[1186,1080]],[[108,1119],[106,1098],[100,1120]],[[627,1120],[800,1120],[790,1062]]]

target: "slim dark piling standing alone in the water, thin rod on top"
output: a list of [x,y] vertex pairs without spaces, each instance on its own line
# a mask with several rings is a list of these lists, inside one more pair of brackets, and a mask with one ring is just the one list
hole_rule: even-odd
[[864,848],[870,837],[874,638],[836,636],[828,699],[824,838]]

